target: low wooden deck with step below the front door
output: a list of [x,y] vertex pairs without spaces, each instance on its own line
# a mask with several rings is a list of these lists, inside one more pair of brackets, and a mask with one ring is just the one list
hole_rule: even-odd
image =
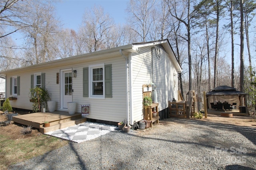
[[[20,123],[26,126],[32,126],[41,133],[46,133],[49,131],[55,131],[65,127],[73,126],[86,121],[86,118],[82,118],[81,113],[75,113],[74,115],[69,115],[68,112],[64,111],[54,111],[54,112],[38,112],[30,113],[26,115],[18,115],[12,118],[15,123]],[[43,127],[44,121],[50,123],[50,127]]]

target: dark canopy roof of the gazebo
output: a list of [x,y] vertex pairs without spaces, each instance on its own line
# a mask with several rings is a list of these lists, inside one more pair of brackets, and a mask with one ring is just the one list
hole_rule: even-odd
[[236,88],[229,86],[218,86],[206,93],[206,96],[228,96],[228,95],[246,95],[244,92],[238,91]]

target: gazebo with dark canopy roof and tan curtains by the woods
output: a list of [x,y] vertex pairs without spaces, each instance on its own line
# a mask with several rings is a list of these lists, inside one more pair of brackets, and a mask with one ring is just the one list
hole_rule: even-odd
[[214,101],[230,105],[236,104],[236,108],[245,107],[246,113],[248,113],[246,95],[246,93],[240,92],[236,88],[218,86],[206,93],[207,106],[211,108],[211,103],[214,103]]

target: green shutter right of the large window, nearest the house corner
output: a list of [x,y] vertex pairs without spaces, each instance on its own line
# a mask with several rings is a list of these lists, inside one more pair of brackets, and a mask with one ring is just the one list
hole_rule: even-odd
[[105,98],[112,98],[112,67],[105,65]]

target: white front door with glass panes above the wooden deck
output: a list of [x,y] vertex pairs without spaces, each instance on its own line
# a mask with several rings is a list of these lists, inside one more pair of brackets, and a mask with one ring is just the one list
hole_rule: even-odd
[[67,102],[72,102],[72,70],[62,71],[62,108],[68,108]]

